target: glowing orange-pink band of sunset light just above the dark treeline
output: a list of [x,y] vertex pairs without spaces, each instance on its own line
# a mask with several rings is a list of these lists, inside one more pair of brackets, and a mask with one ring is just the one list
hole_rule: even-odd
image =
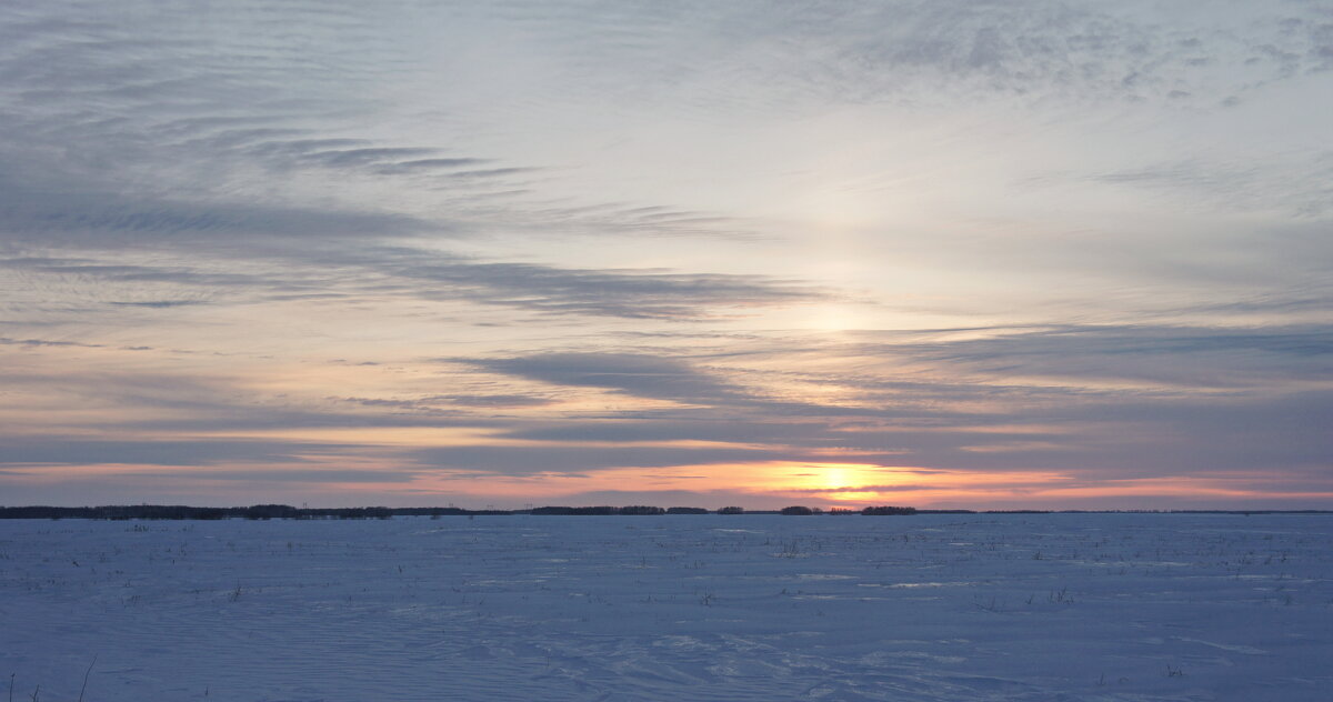
[[[1328,500],[1324,492],[1278,492],[1266,489],[1270,477],[1236,473],[1153,477],[1133,480],[1092,480],[1061,472],[982,473],[918,466],[884,466],[856,462],[768,461],[754,464],[712,464],[665,468],[613,468],[587,472],[535,472],[499,474],[484,470],[404,468],[396,461],[340,452],[339,456],[311,454],[292,465],[235,462],[225,466],[168,466],[92,464],[80,466],[29,465],[7,469],[11,481],[28,486],[77,485],[116,481],[143,485],[155,492],[188,494],[207,489],[228,496],[237,504],[264,502],[272,489],[300,490],[324,498],[376,494],[373,501],[400,504],[456,502],[460,505],[504,504],[616,504],[616,496],[652,502],[653,493],[685,494],[689,506],[718,508],[744,502],[753,509],[785,505],[869,506],[901,505],[917,508],[993,509],[996,505],[1024,505],[1034,509],[1070,509],[1080,501],[1125,498],[1125,509],[1142,498],[1241,500]],[[356,478],[341,481],[340,472]],[[411,473],[404,477],[403,473]],[[308,473],[309,478],[304,478]],[[245,476],[253,476],[247,478]],[[377,480],[383,474],[384,480]],[[165,480],[165,482],[164,482]],[[1330,486],[1333,488],[1333,486]],[[251,497],[252,496],[252,497]],[[677,500],[672,497],[670,500]],[[716,504],[714,504],[716,502]],[[633,502],[625,502],[633,504]],[[677,506],[663,504],[660,506]]]

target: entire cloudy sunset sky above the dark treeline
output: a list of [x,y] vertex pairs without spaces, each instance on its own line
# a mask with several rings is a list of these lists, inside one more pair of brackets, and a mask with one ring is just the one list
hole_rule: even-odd
[[1333,3],[12,0],[0,505],[1333,509]]

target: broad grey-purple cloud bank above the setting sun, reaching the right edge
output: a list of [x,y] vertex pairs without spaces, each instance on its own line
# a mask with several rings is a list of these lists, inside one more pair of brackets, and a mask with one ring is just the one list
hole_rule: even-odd
[[[1310,378],[1333,380],[1333,337],[1322,326],[997,328],[977,338],[978,332],[938,332],[930,344],[916,333],[896,344],[797,354],[778,350],[797,345],[773,341],[765,360],[784,358],[788,368],[841,368],[852,362],[836,362],[845,354],[912,369],[905,378],[873,366],[861,377],[812,370],[801,378],[858,388],[854,412],[782,402],[737,382],[773,377],[704,369],[686,358],[553,353],[472,364],[543,384],[686,405],[515,422],[504,433],[555,445],[708,441],[812,462],[1124,478],[1277,470],[1333,456],[1320,430],[1333,421],[1333,401],[1325,390],[1306,389]],[[962,338],[949,338],[954,334]],[[1125,386],[1126,380],[1138,385]]]

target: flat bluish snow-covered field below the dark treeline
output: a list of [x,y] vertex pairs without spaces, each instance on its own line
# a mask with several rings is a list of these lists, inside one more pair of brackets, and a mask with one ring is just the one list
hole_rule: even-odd
[[1333,517],[0,521],[13,699],[1333,699]]

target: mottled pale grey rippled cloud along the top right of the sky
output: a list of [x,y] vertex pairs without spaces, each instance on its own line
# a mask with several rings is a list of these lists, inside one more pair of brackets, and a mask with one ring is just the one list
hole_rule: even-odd
[[[1174,8],[1169,19],[1148,3],[1057,0],[631,9],[547,57],[593,67],[583,89],[621,100],[649,92],[624,84],[639,73],[647,85],[666,84],[690,99],[712,92],[729,105],[786,109],[977,97],[1213,107],[1208,96],[1328,69],[1326,23],[1313,7],[1228,9]],[[559,20],[532,24],[539,36],[569,29]],[[640,41],[623,41],[625,35]]]

